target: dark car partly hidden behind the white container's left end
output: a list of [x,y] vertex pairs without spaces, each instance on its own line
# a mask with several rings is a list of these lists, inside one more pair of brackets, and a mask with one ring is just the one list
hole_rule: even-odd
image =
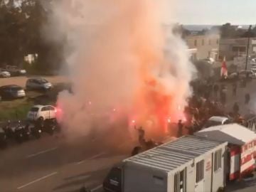
[[122,164],[112,167],[103,181],[105,192],[122,192]]

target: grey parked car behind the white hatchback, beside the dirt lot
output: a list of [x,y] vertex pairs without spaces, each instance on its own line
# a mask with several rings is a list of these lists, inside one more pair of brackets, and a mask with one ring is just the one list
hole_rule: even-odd
[[30,78],[26,81],[26,89],[28,90],[50,90],[53,85],[43,78]]

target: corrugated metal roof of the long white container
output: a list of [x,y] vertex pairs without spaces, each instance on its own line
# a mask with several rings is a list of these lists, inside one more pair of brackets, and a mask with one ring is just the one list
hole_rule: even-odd
[[223,142],[214,142],[195,136],[184,136],[175,141],[162,144],[137,156],[125,159],[142,166],[150,166],[162,171],[172,171],[178,166],[201,156]]

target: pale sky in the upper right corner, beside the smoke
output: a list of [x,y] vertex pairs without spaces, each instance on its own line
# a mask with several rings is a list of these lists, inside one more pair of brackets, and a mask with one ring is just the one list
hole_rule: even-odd
[[166,22],[200,25],[256,23],[256,0],[166,0],[165,7],[164,12],[168,12],[164,15]]

